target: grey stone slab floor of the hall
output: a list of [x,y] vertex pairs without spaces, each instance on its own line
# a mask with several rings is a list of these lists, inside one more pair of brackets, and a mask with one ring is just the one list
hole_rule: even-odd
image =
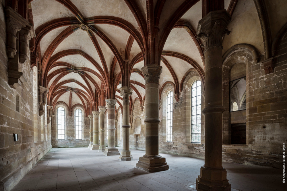
[[[121,148],[119,148],[121,150]],[[144,151],[132,150],[132,161],[104,156],[88,148],[53,148],[13,188],[23,190],[195,190],[204,160],[170,154],[169,170],[147,173],[136,168]],[[223,163],[232,190],[285,190],[282,169]],[[286,183],[287,184],[287,183]]]

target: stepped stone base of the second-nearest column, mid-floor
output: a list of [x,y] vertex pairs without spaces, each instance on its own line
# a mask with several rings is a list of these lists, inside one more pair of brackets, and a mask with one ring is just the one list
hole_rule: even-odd
[[159,172],[168,170],[168,165],[165,162],[165,158],[161,157],[160,155],[154,157],[144,155],[139,157],[137,168],[147,172]]

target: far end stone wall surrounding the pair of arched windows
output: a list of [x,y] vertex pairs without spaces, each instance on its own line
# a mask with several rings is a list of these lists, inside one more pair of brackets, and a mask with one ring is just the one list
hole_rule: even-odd
[[[61,140],[57,138],[57,108],[63,107],[65,109],[65,139]],[[82,110],[82,139],[76,139],[75,136],[75,110]],[[55,106],[54,115],[52,119],[52,147],[53,148],[62,148],[62,147],[88,147],[90,143],[90,119],[85,118],[83,108],[76,107],[72,112],[72,115],[69,116],[67,108],[64,105],[58,104]]]

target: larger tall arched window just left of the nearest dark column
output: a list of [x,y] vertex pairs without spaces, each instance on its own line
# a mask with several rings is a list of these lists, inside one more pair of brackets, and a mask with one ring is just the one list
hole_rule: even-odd
[[191,86],[191,142],[200,143],[201,136],[201,82]]

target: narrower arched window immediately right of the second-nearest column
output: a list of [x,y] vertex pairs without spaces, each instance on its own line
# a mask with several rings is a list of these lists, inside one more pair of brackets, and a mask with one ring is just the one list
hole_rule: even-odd
[[166,98],[166,142],[172,142],[172,91]]

